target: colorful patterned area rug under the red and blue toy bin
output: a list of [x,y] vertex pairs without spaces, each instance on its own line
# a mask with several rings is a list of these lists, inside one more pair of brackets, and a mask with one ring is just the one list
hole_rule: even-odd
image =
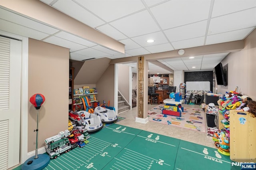
[[[182,105],[182,107],[184,107]],[[206,132],[205,113],[202,109],[184,107],[182,117],[163,115],[164,105],[158,105],[148,111],[148,120],[175,127],[187,128],[199,132]]]

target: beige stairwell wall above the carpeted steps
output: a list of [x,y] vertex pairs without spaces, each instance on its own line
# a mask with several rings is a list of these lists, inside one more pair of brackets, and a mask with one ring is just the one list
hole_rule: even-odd
[[130,67],[127,65],[118,64],[118,91],[123,95],[129,103],[129,85],[130,85]]

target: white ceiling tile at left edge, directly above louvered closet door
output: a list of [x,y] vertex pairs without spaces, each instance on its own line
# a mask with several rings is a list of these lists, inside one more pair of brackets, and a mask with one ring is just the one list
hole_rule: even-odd
[[40,31],[36,31],[34,29],[30,29],[24,26],[20,26],[18,24],[14,24],[12,22],[8,22],[6,20],[2,20],[0,19],[0,30],[2,31],[6,31],[6,32],[11,32],[13,34],[17,34],[20,36],[24,36],[24,37],[29,37],[29,38],[33,38],[36,40],[42,40],[44,38],[46,38],[47,36],[49,36],[49,34],[40,32]]

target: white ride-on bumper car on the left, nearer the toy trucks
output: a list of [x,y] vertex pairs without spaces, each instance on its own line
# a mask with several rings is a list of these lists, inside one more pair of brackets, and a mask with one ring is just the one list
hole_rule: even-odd
[[87,129],[88,132],[95,132],[103,128],[103,124],[100,121],[100,116],[88,113],[86,111],[79,112],[83,112],[83,117],[81,117],[79,122]]

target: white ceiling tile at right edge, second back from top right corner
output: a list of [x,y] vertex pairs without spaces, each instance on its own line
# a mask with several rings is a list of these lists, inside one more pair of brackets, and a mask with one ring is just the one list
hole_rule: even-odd
[[254,26],[256,26],[256,8],[212,18],[208,35]]

